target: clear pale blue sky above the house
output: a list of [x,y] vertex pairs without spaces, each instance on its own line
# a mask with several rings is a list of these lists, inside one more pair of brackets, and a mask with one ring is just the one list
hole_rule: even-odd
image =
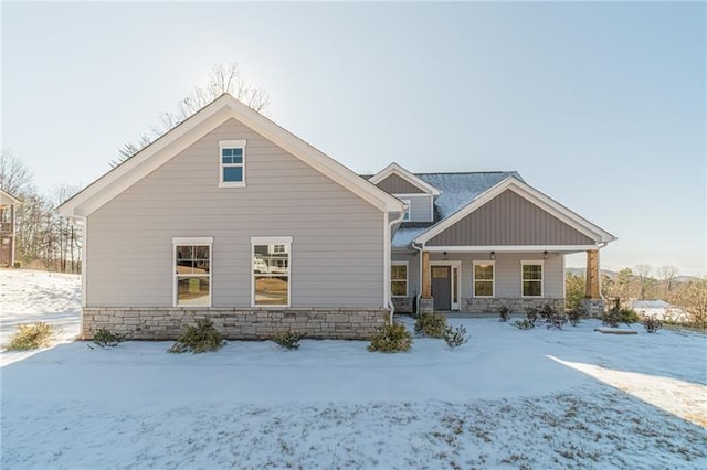
[[1,8],[2,146],[42,192],[236,61],[357,172],[517,170],[619,237],[603,268],[707,273],[703,2]]

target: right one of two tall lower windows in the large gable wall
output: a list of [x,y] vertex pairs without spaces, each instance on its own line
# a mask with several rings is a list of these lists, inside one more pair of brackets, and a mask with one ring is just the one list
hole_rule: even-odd
[[252,305],[289,307],[292,237],[252,237]]

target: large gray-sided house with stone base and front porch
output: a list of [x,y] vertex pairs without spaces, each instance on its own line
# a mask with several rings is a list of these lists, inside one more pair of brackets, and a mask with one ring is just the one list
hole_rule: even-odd
[[418,297],[561,303],[563,255],[598,273],[613,239],[516,173],[362,178],[228,94],[60,212],[84,231],[86,339],[173,339],[204,317],[233,339],[362,339]]

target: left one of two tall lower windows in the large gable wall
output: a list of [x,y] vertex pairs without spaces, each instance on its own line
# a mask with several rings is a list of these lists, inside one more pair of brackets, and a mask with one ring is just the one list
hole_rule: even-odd
[[175,306],[211,306],[211,245],[213,238],[172,238]]

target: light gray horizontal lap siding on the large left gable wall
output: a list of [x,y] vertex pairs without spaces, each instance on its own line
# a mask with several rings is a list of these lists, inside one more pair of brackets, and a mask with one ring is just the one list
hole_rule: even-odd
[[[245,139],[246,188],[218,188]],[[213,237],[212,306],[250,307],[251,237],[292,236],[291,307],[382,306],[384,214],[230,119],[87,218],[87,307],[173,305],[172,237]]]

